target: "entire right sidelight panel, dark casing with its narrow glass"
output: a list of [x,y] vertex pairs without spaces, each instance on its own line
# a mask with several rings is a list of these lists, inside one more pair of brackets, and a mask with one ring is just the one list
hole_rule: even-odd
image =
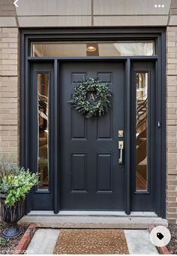
[[131,65],[131,211],[154,211],[155,75],[153,61]]

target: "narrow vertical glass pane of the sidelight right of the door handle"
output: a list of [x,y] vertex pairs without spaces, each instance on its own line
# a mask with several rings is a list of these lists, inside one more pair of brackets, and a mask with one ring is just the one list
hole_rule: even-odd
[[136,73],[136,190],[148,189],[148,73]]

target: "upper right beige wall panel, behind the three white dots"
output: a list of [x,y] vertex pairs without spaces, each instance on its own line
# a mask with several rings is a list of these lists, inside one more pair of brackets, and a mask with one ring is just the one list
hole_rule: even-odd
[[[95,15],[168,15],[170,0],[94,0]],[[165,8],[154,8],[154,5]]]

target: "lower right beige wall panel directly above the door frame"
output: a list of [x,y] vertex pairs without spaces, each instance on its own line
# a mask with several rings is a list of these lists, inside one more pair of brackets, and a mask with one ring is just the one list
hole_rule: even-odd
[[168,16],[95,16],[94,26],[166,26]]

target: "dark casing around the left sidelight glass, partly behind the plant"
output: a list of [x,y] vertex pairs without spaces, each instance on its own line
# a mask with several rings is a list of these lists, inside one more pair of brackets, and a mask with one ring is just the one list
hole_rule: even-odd
[[[28,104],[30,105],[28,117],[28,136],[29,136],[29,156],[28,156],[28,168],[32,172],[37,172],[37,160],[38,160],[38,99],[37,99],[37,74],[45,73],[49,76],[49,190],[38,190],[34,187],[28,197],[27,209],[30,210],[53,210],[54,208],[54,158],[52,149],[52,129],[53,129],[53,118],[52,113],[54,111],[53,102],[53,63],[52,62],[37,62],[31,63],[30,65],[30,87],[28,90]],[[27,133],[26,133],[27,135]]]

